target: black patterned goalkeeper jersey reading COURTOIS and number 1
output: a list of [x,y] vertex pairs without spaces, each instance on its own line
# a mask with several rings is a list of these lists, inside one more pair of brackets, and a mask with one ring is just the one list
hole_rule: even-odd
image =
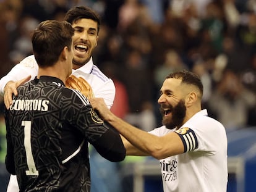
[[109,161],[122,161],[119,134],[79,91],[42,76],[18,88],[6,110],[6,168],[20,191],[90,191],[88,143]]

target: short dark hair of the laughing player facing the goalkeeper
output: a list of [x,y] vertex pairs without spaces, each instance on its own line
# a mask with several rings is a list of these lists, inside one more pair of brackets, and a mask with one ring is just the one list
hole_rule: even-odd
[[79,19],[92,19],[97,23],[97,34],[100,31],[100,15],[98,15],[94,10],[85,6],[77,6],[69,9],[65,15],[64,20],[69,22],[71,25]]

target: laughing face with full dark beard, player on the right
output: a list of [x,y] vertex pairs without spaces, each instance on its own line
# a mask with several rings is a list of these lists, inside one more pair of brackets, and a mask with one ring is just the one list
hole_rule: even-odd
[[167,78],[160,90],[160,111],[163,115],[163,125],[173,129],[181,127],[186,117],[186,91],[182,91],[181,80]]

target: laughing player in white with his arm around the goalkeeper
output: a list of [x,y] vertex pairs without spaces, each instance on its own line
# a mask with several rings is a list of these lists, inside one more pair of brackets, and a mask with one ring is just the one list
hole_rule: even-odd
[[[104,98],[107,106],[110,108],[113,105],[116,88],[113,80],[106,77],[106,75],[93,64],[92,59],[92,53],[97,46],[99,38],[98,34],[101,25],[100,16],[89,7],[79,6],[70,9],[64,20],[71,23],[72,27],[75,29],[75,35],[72,38],[74,44],[72,75],[86,80],[92,88],[92,95]],[[0,94],[4,96],[4,103],[7,109],[9,109],[12,103],[12,94],[14,93],[15,96],[18,94],[17,87],[28,80],[32,80],[37,74],[38,64],[36,63],[35,56],[32,55],[23,59],[19,64],[15,65],[6,76],[1,78]],[[83,90],[81,90],[81,92],[83,93]],[[105,164],[110,163],[103,158],[102,161],[104,161]],[[93,163],[95,164],[95,162]],[[106,165],[106,167],[108,167],[108,165]],[[94,177],[93,174],[95,174],[96,171],[97,170],[92,171],[92,180]],[[96,183],[96,181],[93,183]],[[92,188],[95,188],[94,184]],[[17,180],[12,175],[7,191],[19,191]]]

